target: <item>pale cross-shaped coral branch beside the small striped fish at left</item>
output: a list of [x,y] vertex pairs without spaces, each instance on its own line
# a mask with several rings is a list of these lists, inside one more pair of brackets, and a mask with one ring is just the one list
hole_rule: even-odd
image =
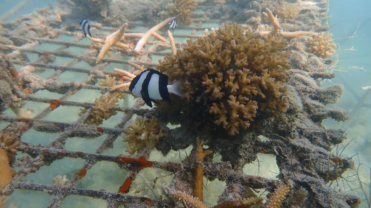
[[86,36],[90,40],[97,42],[97,43],[103,43],[104,45],[102,46],[101,50],[99,51],[98,57],[96,58],[95,63],[98,64],[102,58],[108,53],[109,48],[111,46],[117,46],[119,48],[124,48],[127,50],[131,50],[131,45],[121,43],[121,39],[124,36],[126,27],[128,26],[128,23],[125,23],[119,30],[115,31],[114,33],[110,34],[105,38],[105,40],[102,40],[100,38],[94,38],[90,36]]

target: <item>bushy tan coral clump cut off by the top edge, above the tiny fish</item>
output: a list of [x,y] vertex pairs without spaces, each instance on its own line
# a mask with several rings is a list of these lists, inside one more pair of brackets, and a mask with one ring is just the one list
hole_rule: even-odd
[[[159,11],[157,15],[162,19],[176,16],[178,23],[182,25],[190,25],[193,22],[190,16],[197,6],[195,0],[164,0],[161,4],[162,11]],[[161,10],[161,6],[155,10]]]

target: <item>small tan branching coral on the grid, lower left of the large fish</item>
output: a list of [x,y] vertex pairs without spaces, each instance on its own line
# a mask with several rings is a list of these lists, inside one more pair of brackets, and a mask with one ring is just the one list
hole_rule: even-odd
[[[116,115],[117,112],[115,110],[109,109],[109,105],[118,106],[116,104],[118,102],[117,98],[114,95],[102,95],[100,98],[95,98],[95,105],[91,108],[91,113],[83,122],[84,124],[88,125],[100,125],[103,123],[103,120],[107,120],[112,115]],[[79,113],[80,116],[85,114],[88,108],[80,108],[81,112]]]

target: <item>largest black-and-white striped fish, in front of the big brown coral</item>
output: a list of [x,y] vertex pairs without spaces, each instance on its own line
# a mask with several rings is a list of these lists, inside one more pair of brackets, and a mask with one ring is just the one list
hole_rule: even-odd
[[151,101],[154,103],[157,103],[156,100],[171,102],[169,93],[182,96],[180,91],[181,81],[168,85],[168,79],[169,77],[167,75],[149,68],[134,77],[130,83],[129,90],[142,98],[150,107],[152,107]]

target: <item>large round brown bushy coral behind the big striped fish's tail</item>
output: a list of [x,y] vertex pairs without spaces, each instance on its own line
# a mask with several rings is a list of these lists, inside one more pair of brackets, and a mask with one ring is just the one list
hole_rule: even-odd
[[285,112],[285,70],[290,67],[285,44],[280,37],[255,37],[237,24],[187,40],[183,51],[157,66],[170,81],[184,80],[183,97],[171,97],[175,104],[160,108],[182,111],[196,127],[221,127],[230,135],[246,130],[258,111],[266,116]]

